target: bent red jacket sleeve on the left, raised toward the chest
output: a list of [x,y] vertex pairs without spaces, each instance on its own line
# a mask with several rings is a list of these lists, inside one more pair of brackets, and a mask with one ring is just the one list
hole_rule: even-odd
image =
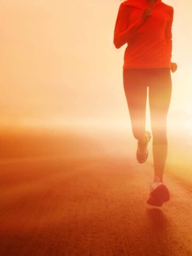
[[138,33],[142,26],[142,18],[135,21],[131,26],[129,25],[129,6],[120,5],[114,31],[114,45],[118,49]]

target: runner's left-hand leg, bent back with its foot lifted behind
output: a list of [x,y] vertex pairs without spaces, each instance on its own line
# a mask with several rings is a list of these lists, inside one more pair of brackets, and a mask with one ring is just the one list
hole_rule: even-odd
[[124,69],[123,84],[135,139],[142,141],[146,129],[147,77],[143,69]]

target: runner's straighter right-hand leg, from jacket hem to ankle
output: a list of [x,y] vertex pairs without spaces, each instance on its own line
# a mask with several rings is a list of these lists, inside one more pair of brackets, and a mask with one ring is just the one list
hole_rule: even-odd
[[171,101],[172,82],[169,69],[150,70],[149,106],[153,133],[155,177],[163,179],[167,157],[166,117]]

